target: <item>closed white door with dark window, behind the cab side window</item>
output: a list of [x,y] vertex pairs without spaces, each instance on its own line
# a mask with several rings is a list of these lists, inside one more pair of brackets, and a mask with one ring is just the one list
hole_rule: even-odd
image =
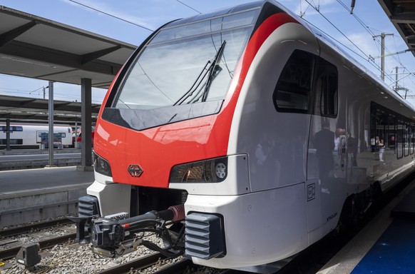
[[[319,58],[314,77],[314,108],[307,157],[308,232],[335,220],[340,185],[347,177],[347,137],[344,108],[340,107],[338,71]],[[341,112],[343,111],[343,113]]]

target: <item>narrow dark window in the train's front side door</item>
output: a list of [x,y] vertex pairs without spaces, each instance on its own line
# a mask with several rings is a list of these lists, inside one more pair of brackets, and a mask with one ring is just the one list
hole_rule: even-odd
[[319,59],[315,82],[316,106],[314,114],[328,117],[337,116],[337,67]]

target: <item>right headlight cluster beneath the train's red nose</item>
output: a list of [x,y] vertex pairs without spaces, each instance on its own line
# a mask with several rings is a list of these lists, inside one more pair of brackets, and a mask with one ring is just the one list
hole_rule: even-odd
[[219,183],[227,176],[227,157],[173,166],[171,183]]

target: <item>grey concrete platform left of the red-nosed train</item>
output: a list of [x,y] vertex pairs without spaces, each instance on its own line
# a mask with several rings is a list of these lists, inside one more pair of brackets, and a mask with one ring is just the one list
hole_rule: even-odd
[[91,183],[76,166],[0,171],[0,229],[76,212]]

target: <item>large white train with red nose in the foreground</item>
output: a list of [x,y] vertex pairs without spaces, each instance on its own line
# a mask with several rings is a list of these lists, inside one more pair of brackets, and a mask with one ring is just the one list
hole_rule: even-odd
[[172,21],[106,93],[77,240],[212,268],[292,258],[414,172],[414,119],[277,1]]

